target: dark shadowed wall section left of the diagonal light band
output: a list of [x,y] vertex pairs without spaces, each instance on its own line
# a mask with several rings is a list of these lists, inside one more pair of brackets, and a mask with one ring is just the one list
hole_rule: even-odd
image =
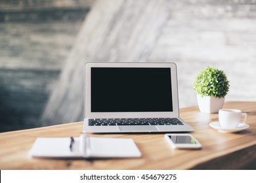
[[93,1],[0,1],[0,132],[40,117]]

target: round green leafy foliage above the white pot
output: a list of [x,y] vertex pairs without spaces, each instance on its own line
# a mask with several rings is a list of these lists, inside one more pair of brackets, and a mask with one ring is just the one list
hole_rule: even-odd
[[228,93],[229,81],[223,71],[206,67],[194,82],[194,90],[196,93],[209,97],[224,97]]

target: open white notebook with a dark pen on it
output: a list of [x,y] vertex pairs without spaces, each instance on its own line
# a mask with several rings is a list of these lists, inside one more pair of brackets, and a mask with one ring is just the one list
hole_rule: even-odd
[[37,158],[136,158],[133,139],[87,137],[37,138],[30,155]]

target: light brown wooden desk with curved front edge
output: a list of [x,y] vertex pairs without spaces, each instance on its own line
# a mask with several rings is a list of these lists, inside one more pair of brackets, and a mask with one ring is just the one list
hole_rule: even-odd
[[37,137],[78,137],[83,122],[0,133],[0,169],[256,169],[256,102],[228,102],[224,108],[247,112],[249,129],[219,133],[209,127],[218,114],[204,114],[198,107],[182,108],[181,118],[195,131],[202,150],[172,150],[163,133],[104,134],[98,137],[133,138],[142,158],[36,159],[28,155]]

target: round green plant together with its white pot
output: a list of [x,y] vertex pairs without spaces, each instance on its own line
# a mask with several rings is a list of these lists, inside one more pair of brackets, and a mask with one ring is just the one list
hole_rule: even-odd
[[194,90],[197,93],[201,112],[215,113],[223,107],[224,97],[228,93],[229,81],[223,71],[206,67],[196,76]]

